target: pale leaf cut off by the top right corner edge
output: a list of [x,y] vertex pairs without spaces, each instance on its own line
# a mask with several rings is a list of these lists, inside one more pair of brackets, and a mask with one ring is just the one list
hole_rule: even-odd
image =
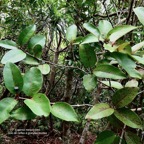
[[139,21],[144,25],[144,7],[135,8],[134,13],[137,15]]

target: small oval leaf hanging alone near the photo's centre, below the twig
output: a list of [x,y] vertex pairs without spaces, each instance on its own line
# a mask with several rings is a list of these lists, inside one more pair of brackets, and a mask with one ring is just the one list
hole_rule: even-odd
[[97,85],[97,78],[94,75],[85,75],[83,77],[83,85],[87,91],[92,91]]

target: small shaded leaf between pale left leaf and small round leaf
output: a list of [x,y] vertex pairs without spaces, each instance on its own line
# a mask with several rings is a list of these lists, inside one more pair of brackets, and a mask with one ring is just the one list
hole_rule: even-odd
[[23,62],[29,65],[39,65],[38,59],[28,54],[26,55],[26,58],[23,60]]

